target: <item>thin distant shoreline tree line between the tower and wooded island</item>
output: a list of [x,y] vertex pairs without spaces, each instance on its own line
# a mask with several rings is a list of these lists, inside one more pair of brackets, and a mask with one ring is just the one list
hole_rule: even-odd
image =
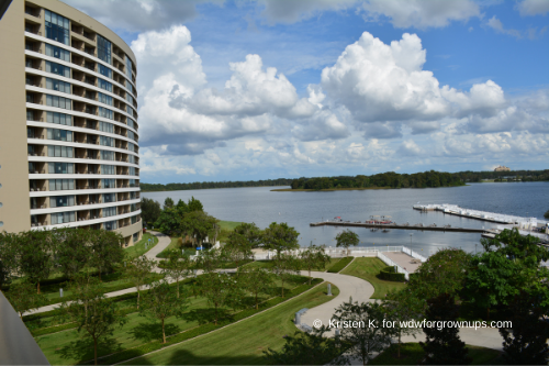
[[290,186],[292,179],[264,179],[264,180],[246,180],[246,181],[195,181],[189,184],[167,184],[167,185],[150,185],[141,184],[143,192],[158,192],[167,190],[189,190],[189,189],[213,189],[213,188],[239,188],[239,187],[272,187],[272,186]]

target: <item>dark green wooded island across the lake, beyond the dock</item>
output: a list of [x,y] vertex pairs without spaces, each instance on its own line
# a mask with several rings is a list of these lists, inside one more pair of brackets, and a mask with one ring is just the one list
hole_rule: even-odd
[[372,176],[299,178],[291,182],[292,189],[332,188],[427,188],[464,186],[457,174],[425,171],[415,174],[380,173]]

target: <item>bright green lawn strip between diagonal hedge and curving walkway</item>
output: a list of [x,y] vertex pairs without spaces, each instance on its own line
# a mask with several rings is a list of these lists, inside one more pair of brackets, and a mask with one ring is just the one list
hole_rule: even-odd
[[[334,295],[339,293],[332,286]],[[258,315],[204,336],[127,362],[127,365],[261,365],[262,351],[281,350],[284,335],[298,330],[292,322],[296,311],[332,300],[326,285]]]

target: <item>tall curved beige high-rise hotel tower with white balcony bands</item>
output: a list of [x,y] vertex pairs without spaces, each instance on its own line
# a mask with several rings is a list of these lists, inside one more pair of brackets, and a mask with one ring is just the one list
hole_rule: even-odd
[[0,232],[142,235],[137,74],[114,32],[57,0],[0,21]]

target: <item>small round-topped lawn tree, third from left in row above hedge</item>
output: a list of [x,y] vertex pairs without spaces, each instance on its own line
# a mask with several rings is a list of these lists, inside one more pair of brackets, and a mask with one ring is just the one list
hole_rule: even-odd
[[233,290],[237,288],[236,280],[225,273],[205,273],[198,279],[198,287],[208,302],[214,307],[214,324],[217,324],[219,309],[234,303]]

